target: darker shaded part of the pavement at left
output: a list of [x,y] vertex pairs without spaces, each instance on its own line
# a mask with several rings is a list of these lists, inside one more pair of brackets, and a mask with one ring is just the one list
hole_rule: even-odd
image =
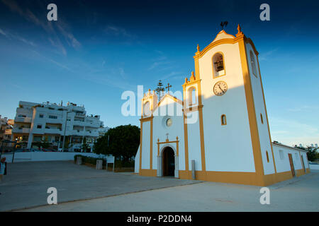
[[128,194],[198,183],[174,178],[140,177],[96,170],[72,161],[16,162],[0,184],[0,211],[47,205],[47,189],[57,189],[57,202]]

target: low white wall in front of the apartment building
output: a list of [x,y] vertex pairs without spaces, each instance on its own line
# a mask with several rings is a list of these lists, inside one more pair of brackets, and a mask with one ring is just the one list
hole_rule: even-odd
[[[95,153],[27,152],[14,153],[13,162],[67,161],[74,160],[74,155],[106,158],[106,155],[97,155]],[[12,162],[13,154],[6,153],[1,155],[1,157],[6,157],[6,162]]]

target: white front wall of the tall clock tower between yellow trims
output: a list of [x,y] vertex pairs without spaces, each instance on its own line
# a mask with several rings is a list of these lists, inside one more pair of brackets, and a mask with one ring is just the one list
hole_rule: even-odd
[[[212,57],[222,52],[225,76],[213,78]],[[207,171],[255,172],[250,123],[247,114],[239,45],[220,44],[199,59],[203,101],[203,132]],[[213,93],[213,86],[225,81],[223,96]],[[227,125],[221,126],[221,115]]]

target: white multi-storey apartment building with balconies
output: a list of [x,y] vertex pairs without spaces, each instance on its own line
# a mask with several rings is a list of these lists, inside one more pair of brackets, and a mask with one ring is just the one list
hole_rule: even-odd
[[24,148],[31,148],[33,142],[47,141],[57,149],[62,148],[65,136],[65,146],[69,151],[81,151],[84,140],[92,151],[101,127],[100,116],[87,115],[84,106],[70,102],[63,106],[62,102],[57,105],[20,101],[11,139],[20,142]]

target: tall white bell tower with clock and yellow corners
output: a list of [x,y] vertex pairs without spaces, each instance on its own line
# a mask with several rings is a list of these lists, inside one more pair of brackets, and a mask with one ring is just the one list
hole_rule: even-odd
[[[195,75],[183,85],[184,101],[196,84],[203,171],[254,172],[254,184],[263,184],[264,176],[276,169],[252,40],[240,25],[236,36],[221,30],[207,47],[197,47],[194,62]],[[196,102],[187,100],[189,104]]]

